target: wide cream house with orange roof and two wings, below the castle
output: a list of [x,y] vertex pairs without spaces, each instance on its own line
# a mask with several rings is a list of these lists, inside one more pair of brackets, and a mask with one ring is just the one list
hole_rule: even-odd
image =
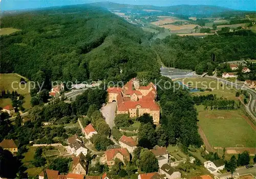
[[130,161],[130,153],[126,148],[113,148],[105,151],[104,162],[107,165],[114,165],[116,158],[125,164],[126,162]]

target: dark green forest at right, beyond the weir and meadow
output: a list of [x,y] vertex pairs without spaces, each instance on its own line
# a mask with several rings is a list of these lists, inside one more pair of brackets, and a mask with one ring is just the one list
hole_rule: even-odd
[[205,38],[172,35],[157,39],[153,47],[165,66],[195,70],[202,74],[214,71],[219,63],[225,61],[256,58],[256,34],[240,30]]

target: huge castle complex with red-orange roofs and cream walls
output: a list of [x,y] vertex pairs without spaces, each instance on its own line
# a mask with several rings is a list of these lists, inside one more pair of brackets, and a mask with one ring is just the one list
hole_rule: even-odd
[[109,87],[107,91],[108,101],[116,101],[117,114],[129,114],[133,118],[147,113],[155,124],[159,124],[160,107],[156,103],[157,87],[154,83],[140,86],[139,80],[133,78],[122,88]]

